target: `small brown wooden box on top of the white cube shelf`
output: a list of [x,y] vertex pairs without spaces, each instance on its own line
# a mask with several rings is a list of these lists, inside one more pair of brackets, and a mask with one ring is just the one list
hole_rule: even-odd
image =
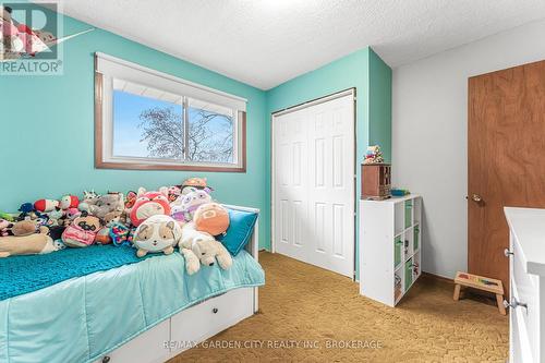
[[389,164],[362,164],[362,199],[386,199],[391,196]]

